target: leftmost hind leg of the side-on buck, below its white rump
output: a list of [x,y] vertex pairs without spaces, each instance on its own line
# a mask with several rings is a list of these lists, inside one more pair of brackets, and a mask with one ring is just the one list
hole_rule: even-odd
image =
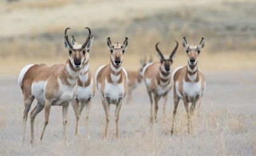
[[25,130],[26,130],[26,122],[27,122],[27,113],[29,113],[30,107],[32,102],[34,101],[35,97],[34,96],[29,96],[28,98],[25,98],[26,96],[24,95],[24,113],[23,113],[23,126],[22,126],[22,138],[21,140],[24,142],[25,141]]

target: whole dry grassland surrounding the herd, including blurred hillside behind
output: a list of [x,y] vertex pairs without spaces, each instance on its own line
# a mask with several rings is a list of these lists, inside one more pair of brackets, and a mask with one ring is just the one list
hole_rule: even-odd
[[[255,1],[20,0],[0,1],[0,5],[0,155],[256,155]],[[149,124],[149,97],[141,83],[130,104],[124,99],[119,140],[115,139],[114,105],[110,106],[108,137],[103,139],[105,113],[96,91],[89,118],[90,140],[85,111],[80,119],[81,136],[74,137],[76,118],[69,107],[65,144],[62,107],[52,107],[42,144],[30,144],[29,119],[23,143],[24,103],[18,74],[32,63],[65,63],[66,27],[71,28],[68,35],[74,35],[79,43],[87,37],[84,27],[91,28],[90,68],[94,73],[110,62],[107,37],[120,42],[129,38],[123,62],[126,69],[138,69],[144,55],[152,54],[158,62],[154,48],[158,41],[166,55],[174,48],[174,40],[179,41],[172,70],[187,63],[182,37],[189,44],[198,44],[204,37],[199,68],[207,85],[201,107],[193,116],[195,135],[187,132],[187,116],[180,101],[171,137],[172,90],[166,118],[161,99],[158,121]],[[35,119],[35,140],[40,137],[43,121],[41,112]]]

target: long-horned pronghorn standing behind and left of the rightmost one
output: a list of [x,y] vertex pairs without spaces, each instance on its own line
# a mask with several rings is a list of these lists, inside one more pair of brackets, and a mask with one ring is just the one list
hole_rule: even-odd
[[154,93],[154,101],[155,101],[155,121],[157,120],[157,110],[158,104],[157,102],[163,96],[165,98],[165,102],[163,104],[163,115],[165,116],[165,105],[167,101],[167,94],[171,90],[171,65],[174,59],[174,54],[179,46],[179,43],[176,41],[176,47],[171,52],[171,55],[168,57],[164,57],[163,54],[158,49],[159,42],[155,45],[155,49],[157,49],[158,59],[160,63],[148,63],[143,68],[143,79],[146,84],[146,88],[148,90],[151,107],[150,107],[150,120],[153,122],[152,116],[152,93]]

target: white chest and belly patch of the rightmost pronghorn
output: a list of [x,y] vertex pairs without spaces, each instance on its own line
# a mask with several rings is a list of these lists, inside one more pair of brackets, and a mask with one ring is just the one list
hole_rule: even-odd
[[188,96],[188,102],[195,102],[196,96],[202,96],[201,80],[199,82],[185,82],[183,80],[183,96]]

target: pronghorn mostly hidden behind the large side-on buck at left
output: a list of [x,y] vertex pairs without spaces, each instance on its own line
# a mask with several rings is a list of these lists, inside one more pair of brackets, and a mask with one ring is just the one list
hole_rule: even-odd
[[[74,36],[71,38],[73,46],[79,45]],[[93,43],[93,36],[91,36],[91,43]],[[77,80],[77,93],[74,99],[70,101],[72,107],[74,108],[76,116],[76,136],[80,134],[79,130],[79,118],[81,116],[82,110],[85,107],[86,110],[86,122],[87,122],[87,137],[90,138],[90,128],[89,128],[89,111],[91,107],[91,98],[93,98],[95,93],[95,78],[93,73],[89,69],[89,50],[85,52],[85,60],[82,69]],[[80,105],[79,105],[80,102]]]

